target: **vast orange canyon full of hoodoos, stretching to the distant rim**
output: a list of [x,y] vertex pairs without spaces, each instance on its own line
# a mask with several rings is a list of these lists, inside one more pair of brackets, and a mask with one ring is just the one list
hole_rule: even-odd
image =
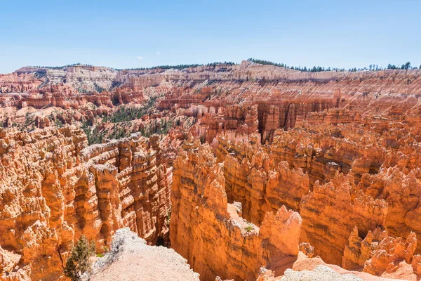
[[67,280],[81,235],[129,230],[179,280],[419,280],[420,98],[421,70],[0,74],[0,280]]

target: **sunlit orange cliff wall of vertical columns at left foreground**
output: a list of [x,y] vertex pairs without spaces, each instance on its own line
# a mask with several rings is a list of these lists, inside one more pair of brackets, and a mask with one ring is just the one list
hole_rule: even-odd
[[98,249],[122,226],[152,243],[166,235],[171,177],[153,140],[133,136],[87,148],[72,126],[0,137],[6,280],[58,279],[81,234]]

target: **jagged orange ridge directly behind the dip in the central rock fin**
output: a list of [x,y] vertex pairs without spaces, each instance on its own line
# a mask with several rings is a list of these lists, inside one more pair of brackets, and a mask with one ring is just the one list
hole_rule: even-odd
[[301,197],[309,191],[309,178],[301,169],[290,170],[286,162],[275,164],[272,155],[258,141],[218,139],[216,157],[224,162],[228,200],[241,202],[243,217],[255,224],[262,223],[266,211],[282,205],[299,211]]

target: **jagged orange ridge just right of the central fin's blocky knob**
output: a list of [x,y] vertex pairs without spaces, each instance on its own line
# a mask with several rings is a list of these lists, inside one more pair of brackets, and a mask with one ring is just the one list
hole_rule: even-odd
[[[338,175],[326,185],[314,184],[302,198],[302,241],[327,263],[341,263],[347,237],[356,226],[362,233],[383,226],[387,204],[367,195],[352,194],[352,178]],[[329,244],[329,247],[326,247]]]

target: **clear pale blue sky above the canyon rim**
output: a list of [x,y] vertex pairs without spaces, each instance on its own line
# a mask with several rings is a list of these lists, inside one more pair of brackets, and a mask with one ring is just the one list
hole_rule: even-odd
[[0,73],[247,58],[293,66],[421,64],[420,0],[1,1]]

